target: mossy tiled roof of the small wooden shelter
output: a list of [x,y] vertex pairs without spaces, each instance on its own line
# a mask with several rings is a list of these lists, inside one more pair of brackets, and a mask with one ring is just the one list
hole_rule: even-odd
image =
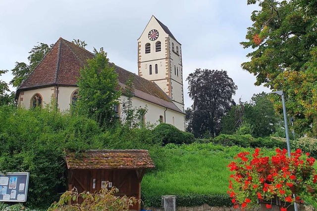
[[151,169],[148,150],[87,150],[66,155],[68,169]]

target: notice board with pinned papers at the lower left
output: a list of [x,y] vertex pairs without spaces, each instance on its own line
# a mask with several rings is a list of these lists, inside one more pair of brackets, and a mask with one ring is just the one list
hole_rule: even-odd
[[26,202],[29,172],[0,173],[0,202]]

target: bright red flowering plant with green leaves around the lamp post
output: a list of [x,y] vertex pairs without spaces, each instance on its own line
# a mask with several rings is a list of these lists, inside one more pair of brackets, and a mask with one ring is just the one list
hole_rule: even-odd
[[[301,149],[288,157],[286,149],[277,148],[275,155],[267,157],[257,148],[252,155],[241,152],[234,159],[228,165],[233,172],[228,194],[234,208],[250,207],[257,200],[272,203],[272,199],[278,196],[285,202],[281,211],[286,211],[286,203],[303,203],[301,196],[309,194],[311,189],[317,190],[315,159]],[[295,193],[296,198],[293,198]],[[266,208],[270,209],[271,204],[266,204]]]

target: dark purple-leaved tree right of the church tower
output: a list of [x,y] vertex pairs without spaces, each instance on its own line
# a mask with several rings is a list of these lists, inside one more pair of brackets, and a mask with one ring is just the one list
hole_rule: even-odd
[[189,96],[194,101],[189,127],[196,137],[206,132],[211,136],[218,134],[221,118],[233,104],[232,95],[237,86],[223,70],[196,69],[186,80]]

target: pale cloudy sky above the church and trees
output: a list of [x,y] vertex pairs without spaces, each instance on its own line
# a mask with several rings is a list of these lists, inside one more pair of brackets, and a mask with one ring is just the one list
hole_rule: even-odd
[[[255,76],[241,68],[252,49],[240,42],[258,9],[246,1],[0,0],[0,70],[13,69],[16,61],[27,63],[38,42],[62,37],[85,41],[89,51],[104,47],[111,62],[137,74],[137,39],[154,15],[182,44],[185,108],[192,105],[186,78],[196,68],[227,71],[238,86],[233,99],[249,101],[254,93],[270,90],[255,86]],[[12,78],[6,73],[0,80]]]

